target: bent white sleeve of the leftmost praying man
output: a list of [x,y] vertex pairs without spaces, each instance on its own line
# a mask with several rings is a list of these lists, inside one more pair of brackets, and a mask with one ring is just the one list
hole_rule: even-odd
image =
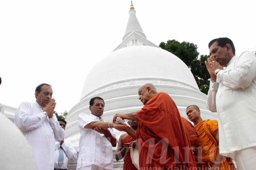
[[43,112],[34,116],[31,116],[31,114],[31,105],[27,102],[22,102],[15,112],[15,125],[23,131],[41,127],[47,116]]

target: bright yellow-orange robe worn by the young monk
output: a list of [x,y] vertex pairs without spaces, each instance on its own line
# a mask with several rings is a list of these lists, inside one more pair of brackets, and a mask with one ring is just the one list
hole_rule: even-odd
[[[198,140],[195,143],[196,149],[194,151],[194,156],[197,162],[197,167],[200,170],[205,170],[209,162],[210,166],[214,163],[217,156],[218,143],[215,140],[215,135],[218,130],[217,120],[202,120],[195,126],[198,131]],[[225,159],[223,157],[222,163],[220,164],[220,170],[236,170],[231,158]]]

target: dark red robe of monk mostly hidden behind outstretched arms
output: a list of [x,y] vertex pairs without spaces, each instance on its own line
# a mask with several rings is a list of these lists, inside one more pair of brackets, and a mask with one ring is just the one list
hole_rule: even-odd
[[[131,143],[135,141],[130,135],[125,136],[125,138],[122,140],[123,145],[125,143]],[[134,166],[134,164],[131,161],[131,150],[129,149],[126,153],[126,156],[124,158],[124,168],[123,170],[137,170],[137,168]]]

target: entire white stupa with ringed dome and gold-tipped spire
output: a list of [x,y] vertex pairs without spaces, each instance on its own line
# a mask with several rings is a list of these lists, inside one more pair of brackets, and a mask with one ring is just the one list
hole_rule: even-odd
[[[122,42],[100,60],[87,75],[80,101],[73,106],[67,117],[65,137],[79,150],[78,116],[90,113],[89,101],[95,96],[105,100],[103,119],[112,122],[119,113],[140,110],[138,89],[145,83],[156,86],[157,92],[169,94],[175,101],[181,116],[186,118],[186,107],[198,105],[203,119],[217,119],[206,108],[207,95],[199,91],[190,69],[174,54],[159,48],[146,39],[131,3],[130,17]],[[122,169],[114,160],[114,169]],[[70,168],[75,167],[70,164]]]

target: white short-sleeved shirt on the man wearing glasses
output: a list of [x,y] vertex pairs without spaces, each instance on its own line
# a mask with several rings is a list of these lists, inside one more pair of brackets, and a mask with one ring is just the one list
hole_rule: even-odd
[[[113,150],[112,144],[108,139],[95,130],[85,128],[84,126],[93,121],[103,121],[99,117],[90,114],[81,113],[78,118],[78,126],[80,129],[79,156],[77,167],[90,166],[95,164],[108,170],[113,170]],[[111,134],[116,137],[111,128],[108,128]]]

